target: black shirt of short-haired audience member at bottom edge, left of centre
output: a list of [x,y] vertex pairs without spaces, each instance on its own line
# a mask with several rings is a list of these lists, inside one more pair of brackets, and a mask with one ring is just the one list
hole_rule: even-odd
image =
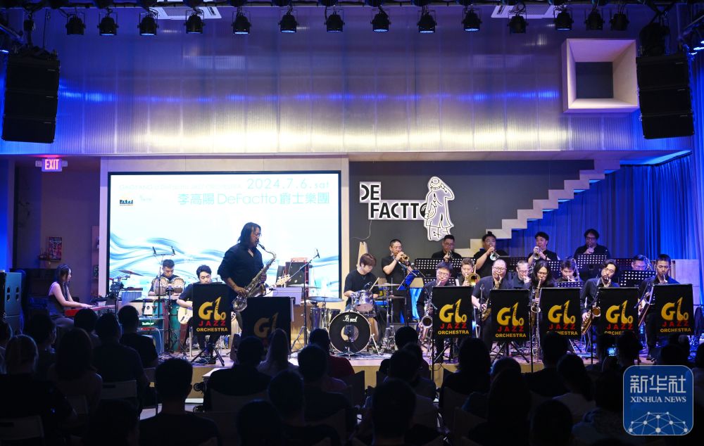
[[139,421],[139,445],[143,446],[200,445],[210,438],[222,444],[213,420],[194,414],[157,414]]

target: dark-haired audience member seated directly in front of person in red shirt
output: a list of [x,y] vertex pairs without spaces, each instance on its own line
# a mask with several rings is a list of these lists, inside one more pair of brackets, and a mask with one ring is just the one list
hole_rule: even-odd
[[306,421],[320,421],[344,410],[347,432],[357,423],[350,402],[344,395],[326,392],[322,385],[327,375],[327,354],[317,345],[308,345],[298,352],[298,373],[303,378]]

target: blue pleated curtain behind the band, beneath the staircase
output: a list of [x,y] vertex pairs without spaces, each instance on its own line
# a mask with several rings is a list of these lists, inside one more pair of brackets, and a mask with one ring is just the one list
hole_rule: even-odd
[[[687,155],[655,166],[622,166],[605,179],[592,184],[574,200],[546,212],[528,228],[514,231],[508,242],[511,255],[532,251],[534,235],[550,235],[548,248],[565,258],[584,244],[584,231],[601,234],[599,244],[614,257],[658,253],[673,258],[702,258],[693,187],[694,158]],[[701,180],[701,177],[699,177]]]

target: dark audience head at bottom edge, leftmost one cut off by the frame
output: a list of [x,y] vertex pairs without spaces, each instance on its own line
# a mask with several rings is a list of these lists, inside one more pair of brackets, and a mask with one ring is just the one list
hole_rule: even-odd
[[83,446],[138,446],[139,414],[124,400],[103,400],[91,416]]

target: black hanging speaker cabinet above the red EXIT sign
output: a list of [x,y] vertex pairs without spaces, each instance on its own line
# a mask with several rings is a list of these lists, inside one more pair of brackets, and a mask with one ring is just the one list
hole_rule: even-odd
[[56,58],[13,54],[5,76],[2,139],[34,143],[54,142],[58,107]]

